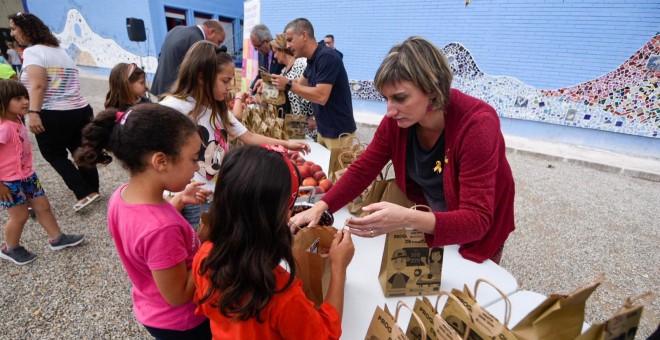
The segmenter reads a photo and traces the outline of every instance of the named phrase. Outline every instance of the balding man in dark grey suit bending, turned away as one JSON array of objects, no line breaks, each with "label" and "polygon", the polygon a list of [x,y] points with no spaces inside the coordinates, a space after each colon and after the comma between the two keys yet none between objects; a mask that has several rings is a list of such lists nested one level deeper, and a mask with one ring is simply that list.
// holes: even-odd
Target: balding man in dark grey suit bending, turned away
[{"label": "balding man in dark grey suit bending, turned away", "polygon": [[176,26],[167,32],[160,49],[158,68],[154,74],[151,93],[159,96],[174,83],[183,57],[190,46],[200,40],[208,40],[218,46],[225,41],[225,29],[218,20],[207,20],[196,26]]}]

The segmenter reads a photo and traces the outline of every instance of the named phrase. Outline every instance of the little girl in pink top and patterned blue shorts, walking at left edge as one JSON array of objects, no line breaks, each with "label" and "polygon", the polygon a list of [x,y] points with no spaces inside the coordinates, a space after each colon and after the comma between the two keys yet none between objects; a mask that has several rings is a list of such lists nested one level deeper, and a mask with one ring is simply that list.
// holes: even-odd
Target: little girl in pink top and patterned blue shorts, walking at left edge
[{"label": "little girl in pink top and patterned blue shorts, walking at left edge", "polygon": [[27,114],[28,91],[15,80],[0,79],[0,207],[7,209],[6,244],[0,258],[18,265],[37,257],[20,245],[28,219],[28,204],[50,237],[50,248],[60,250],[79,245],[85,235],[60,231],[37,174],[32,167],[32,144],[21,116]]}]

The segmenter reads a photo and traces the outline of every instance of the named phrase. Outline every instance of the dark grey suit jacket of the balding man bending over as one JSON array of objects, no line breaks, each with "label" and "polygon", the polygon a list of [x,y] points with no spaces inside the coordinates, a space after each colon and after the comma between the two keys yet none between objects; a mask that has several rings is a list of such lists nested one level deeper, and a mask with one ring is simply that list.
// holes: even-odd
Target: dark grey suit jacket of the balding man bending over
[{"label": "dark grey suit jacket of the balding man bending over", "polygon": [[194,43],[204,40],[202,30],[197,26],[177,26],[167,32],[160,49],[158,68],[151,85],[151,93],[159,96],[167,92],[176,80],[179,65]]}]

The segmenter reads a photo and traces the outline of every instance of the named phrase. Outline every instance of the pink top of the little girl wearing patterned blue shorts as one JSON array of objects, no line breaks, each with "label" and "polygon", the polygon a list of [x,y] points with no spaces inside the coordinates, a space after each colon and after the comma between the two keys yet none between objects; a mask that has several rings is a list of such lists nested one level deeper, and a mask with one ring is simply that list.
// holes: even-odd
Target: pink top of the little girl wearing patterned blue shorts
[{"label": "pink top of the little girl wearing patterned blue shorts", "polygon": [[33,173],[32,143],[25,125],[0,120],[0,181],[18,181]]}]

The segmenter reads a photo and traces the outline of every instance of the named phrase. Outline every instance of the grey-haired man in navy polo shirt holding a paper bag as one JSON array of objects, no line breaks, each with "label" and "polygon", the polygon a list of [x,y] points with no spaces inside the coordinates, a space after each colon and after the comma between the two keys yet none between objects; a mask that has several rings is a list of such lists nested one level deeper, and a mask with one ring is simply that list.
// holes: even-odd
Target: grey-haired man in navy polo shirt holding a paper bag
[{"label": "grey-haired man in navy polo shirt holding a paper bag", "polygon": [[318,127],[317,141],[328,149],[339,147],[339,135],[355,135],[356,130],[344,63],[335,50],[316,42],[314,28],[307,19],[291,21],[284,28],[284,34],[293,56],[307,58],[307,68],[295,81],[272,75],[273,83],[281,90],[293,91],[312,102]]}]

